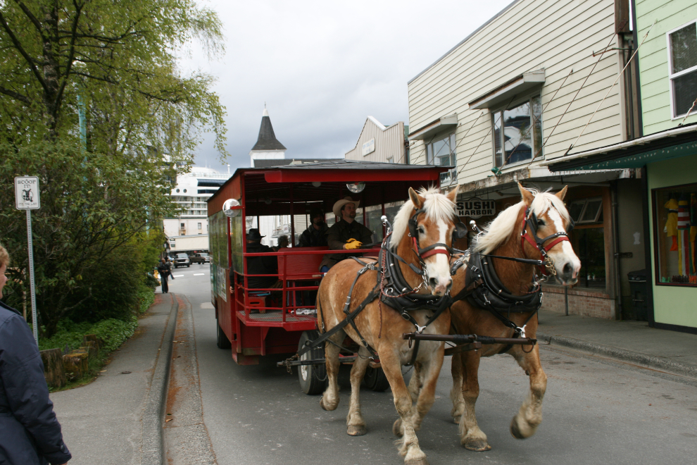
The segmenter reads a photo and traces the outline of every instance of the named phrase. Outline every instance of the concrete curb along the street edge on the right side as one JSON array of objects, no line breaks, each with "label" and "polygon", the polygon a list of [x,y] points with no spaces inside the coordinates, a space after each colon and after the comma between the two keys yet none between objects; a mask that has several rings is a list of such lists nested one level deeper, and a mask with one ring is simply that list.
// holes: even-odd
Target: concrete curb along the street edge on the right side
[{"label": "concrete curb along the street edge on the right side", "polygon": [[596,344],[594,342],[587,342],[565,336],[549,336],[543,333],[537,333],[537,339],[544,341],[549,345],[570,347],[582,352],[589,352],[590,354],[601,355],[610,359],[616,359],[630,364],[643,366],[644,368],[667,371],[680,376],[687,376],[689,378],[697,378],[696,366],[681,364],[660,356],[643,354],[641,352],[634,352],[632,350]]}]

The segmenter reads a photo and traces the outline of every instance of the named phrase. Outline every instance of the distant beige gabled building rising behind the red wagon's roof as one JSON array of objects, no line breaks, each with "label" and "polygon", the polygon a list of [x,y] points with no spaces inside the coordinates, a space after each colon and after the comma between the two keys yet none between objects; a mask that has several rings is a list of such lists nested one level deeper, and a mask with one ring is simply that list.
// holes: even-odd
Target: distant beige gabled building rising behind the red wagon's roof
[{"label": "distant beige gabled building rising behind the red wagon's roof", "polygon": [[404,123],[385,127],[368,116],[360,131],[356,147],[344,155],[347,160],[382,161],[383,163],[407,163],[404,144]]}]

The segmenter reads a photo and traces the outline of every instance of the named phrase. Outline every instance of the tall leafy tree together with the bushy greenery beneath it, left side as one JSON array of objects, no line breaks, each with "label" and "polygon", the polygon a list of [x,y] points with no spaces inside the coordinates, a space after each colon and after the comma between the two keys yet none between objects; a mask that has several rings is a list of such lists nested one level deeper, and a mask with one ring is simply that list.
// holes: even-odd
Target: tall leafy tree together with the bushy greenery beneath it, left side
[{"label": "tall leafy tree together with the bushy greenery beneath it, left side", "polygon": [[[94,320],[130,307],[129,289],[142,282],[114,273],[143,276],[154,264],[164,242],[158,219],[175,213],[167,178],[189,168],[204,130],[215,133],[225,157],[225,109],[211,77],[182,76],[176,66],[191,39],[220,51],[220,27],[194,0],[0,0],[0,242],[13,259],[7,300],[21,306],[28,291],[24,214],[14,209],[12,178],[38,175],[42,208],[32,218],[44,336],[61,318]],[[115,266],[124,254],[131,255]]]}]

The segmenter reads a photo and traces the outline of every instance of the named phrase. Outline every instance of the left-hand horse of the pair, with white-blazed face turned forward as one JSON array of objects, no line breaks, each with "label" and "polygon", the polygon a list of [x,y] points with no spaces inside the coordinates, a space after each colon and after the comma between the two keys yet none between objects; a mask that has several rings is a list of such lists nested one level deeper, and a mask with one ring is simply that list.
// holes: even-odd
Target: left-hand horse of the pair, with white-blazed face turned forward
[{"label": "left-hand horse of the pair, with white-blazed face turned forward", "polygon": [[[438,315],[427,308],[399,314],[394,308],[396,304],[388,306],[384,302],[391,300],[385,294],[411,294],[432,301],[449,299],[448,291],[452,285],[450,249],[453,231],[457,229],[459,222],[455,215],[456,194],[457,189],[448,194],[442,194],[434,187],[422,189],[418,193],[409,189],[410,199],[396,214],[389,241],[386,239],[383,242],[380,254],[383,262],[384,254],[403,259],[394,261],[393,264],[399,268],[408,286],[386,290],[384,275],[379,273],[382,264],[372,262],[372,267],[365,267],[356,260],[344,259],[327,272],[318,290],[320,333],[331,331],[344,321],[349,310],[356,311],[358,306],[365,304],[363,310],[359,310],[360,313],[353,318],[351,325],[344,322],[344,327],[337,328],[340,330],[325,343],[328,385],[320,399],[320,407],[332,411],[339,404],[339,351],[348,335],[360,349],[351,368],[347,433],[352,436],[366,433],[365,420],[360,412],[360,382],[371,356],[377,354],[389,381],[394,407],[399,416],[392,430],[399,438],[396,442],[399,453],[408,465],[428,463],[426,454],[419,447],[415,431],[419,430],[425,414],[434,402],[436,383],[443,364],[444,343],[421,342],[417,349],[417,345],[403,340],[403,333],[412,333],[415,325],[419,325],[425,333],[448,333],[451,323],[449,302]],[[370,302],[366,304],[365,301]],[[402,376],[401,367],[405,364],[417,366],[422,373],[420,393],[414,399]]]}]

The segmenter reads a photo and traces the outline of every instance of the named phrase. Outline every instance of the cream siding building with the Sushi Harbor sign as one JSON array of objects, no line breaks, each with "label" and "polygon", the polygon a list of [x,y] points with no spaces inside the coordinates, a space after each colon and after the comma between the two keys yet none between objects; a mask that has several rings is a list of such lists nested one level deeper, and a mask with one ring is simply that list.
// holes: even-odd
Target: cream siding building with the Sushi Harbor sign
[{"label": "cream siding building with the Sushi Harbor sign", "polygon": [[[627,272],[643,263],[639,225],[622,213],[643,208],[634,170],[546,167],[640,135],[634,68],[621,74],[634,46],[628,0],[517,0],[408,82],[410,163],[456,167],[441,185],[460,185],[465,223],[485,225],[518,202],[517,182],[569,186],[582,262],[570,313],[627,318]],[[468,210],[478,201],[492,208]],[[543,308],[565,311],[563,287],[544,290]]]}]

